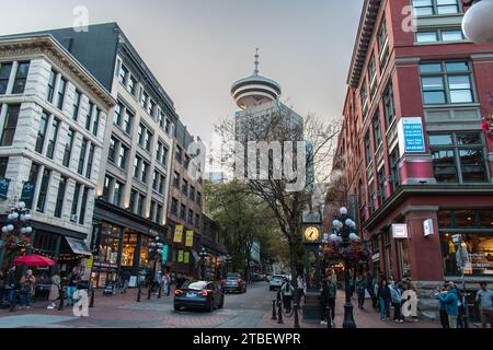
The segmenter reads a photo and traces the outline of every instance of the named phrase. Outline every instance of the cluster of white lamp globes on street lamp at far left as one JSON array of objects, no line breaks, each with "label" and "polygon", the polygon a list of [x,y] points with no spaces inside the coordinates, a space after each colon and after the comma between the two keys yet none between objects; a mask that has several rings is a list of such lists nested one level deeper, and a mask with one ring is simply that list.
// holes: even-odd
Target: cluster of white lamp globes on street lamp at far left
[{"label": "cluster of white lamp globes on street lamp at far left", "polygon": [[1,229],[2,245],[12,250],[28,248],[33,228],[30,224],[32,215],[30,209],[26,209],[25,202],[21,201],[15,208],[11,209],[7,219],[8,223]]}]

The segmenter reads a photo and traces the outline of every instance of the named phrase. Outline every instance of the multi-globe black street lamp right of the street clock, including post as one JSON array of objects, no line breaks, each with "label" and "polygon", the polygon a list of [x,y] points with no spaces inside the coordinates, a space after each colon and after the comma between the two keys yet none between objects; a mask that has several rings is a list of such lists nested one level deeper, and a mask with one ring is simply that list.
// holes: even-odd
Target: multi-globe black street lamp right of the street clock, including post
[{"label": "multi-globe black street lamp right of the street clock, including post", "polygon": [[341,255],[344,260],[344,280],[346,303],[344,304],[344,323],[343,328],[356,328],[356,323],[353,316],[353,304],[351,303],[351,268],[357,261],[352,256],[352,243],[359,243],[362,238],[356,231],[356,223],[347,215],[347,209],[340,209],[341,217],[335,219],[332,223],[332,234],[330,240],[332,243],[339,245]]}]

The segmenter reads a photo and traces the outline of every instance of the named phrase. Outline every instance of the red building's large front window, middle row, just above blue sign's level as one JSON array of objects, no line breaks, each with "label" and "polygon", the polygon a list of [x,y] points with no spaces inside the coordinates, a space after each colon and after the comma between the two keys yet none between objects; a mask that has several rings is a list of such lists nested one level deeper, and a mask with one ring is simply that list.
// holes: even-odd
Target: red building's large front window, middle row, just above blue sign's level
[{"label": "red building's large front window, middle row, just above blue sign's level", "polygon": [[422,63],[420,70],[425,105],[474,102],[469,62]]}]

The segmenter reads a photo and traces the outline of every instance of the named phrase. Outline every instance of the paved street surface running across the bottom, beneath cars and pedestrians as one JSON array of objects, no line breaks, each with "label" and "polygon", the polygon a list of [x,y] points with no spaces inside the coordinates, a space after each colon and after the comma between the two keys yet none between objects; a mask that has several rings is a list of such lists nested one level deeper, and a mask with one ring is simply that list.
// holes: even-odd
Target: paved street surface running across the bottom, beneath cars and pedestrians
[{"label": "paved street surface running across the bottom, beneath cars and pedestrians", "polygon": [[[225,308],[214,313],[174,312],[173,299],[158,300],[152,295],[147,300],[142,292],[141,302],[137,303],[137,291],[117,294],[111,298],[96,293],[95,307],[90,308],[90,317],[74,317],[70,308],[62,312],[48,311],[45,303],[36,303],[30,311],[9,313],[0,311],[0,328],[293,328],[294,319],[284,318],[279,325],[272,320],[272,300],[275,292],[270,292],[266,283],[249,287],[246,294],[228,294]],[[343,320],[343,293],[336,305],[336,326]],[[394,324],[382,323],[374,311],[360,312],[355,308],[355,319],[359,328],[436,328],[438,323],[419,322]],[[324,328],[318,323],[305,323],[301,328]]]}]

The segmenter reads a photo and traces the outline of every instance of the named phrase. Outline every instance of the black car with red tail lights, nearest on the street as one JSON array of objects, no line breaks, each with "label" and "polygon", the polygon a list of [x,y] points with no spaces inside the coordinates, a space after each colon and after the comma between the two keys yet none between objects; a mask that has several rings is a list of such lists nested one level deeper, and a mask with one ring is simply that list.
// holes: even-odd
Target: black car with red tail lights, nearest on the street
[{"label": "black car with red tail lights, nearest on the street", "polygon": [[187,282],[174,292],[174,311],[194,308],[213,312],[223,305],[225,294],[215,282]]}]

